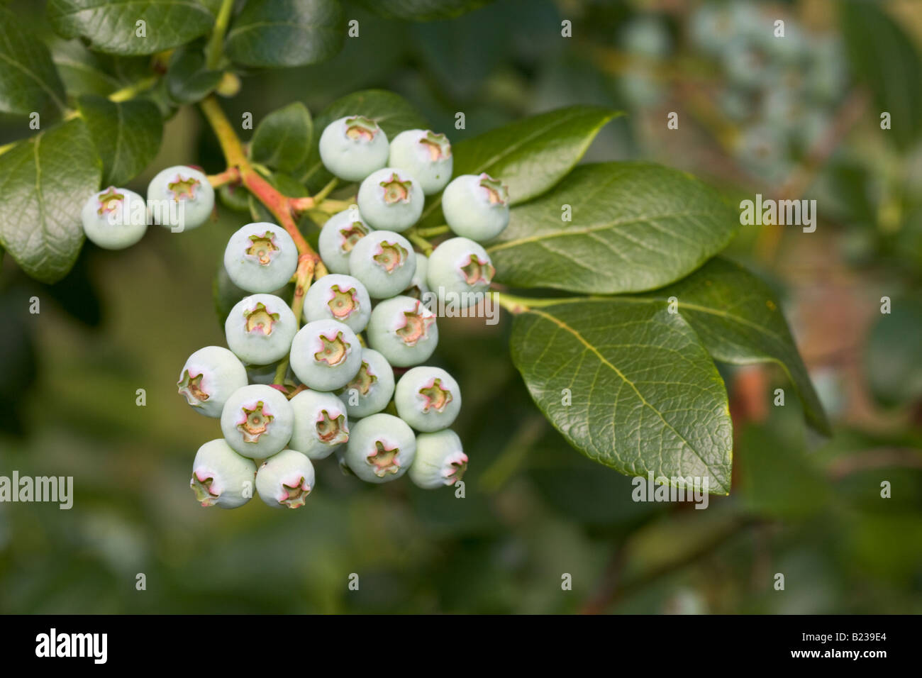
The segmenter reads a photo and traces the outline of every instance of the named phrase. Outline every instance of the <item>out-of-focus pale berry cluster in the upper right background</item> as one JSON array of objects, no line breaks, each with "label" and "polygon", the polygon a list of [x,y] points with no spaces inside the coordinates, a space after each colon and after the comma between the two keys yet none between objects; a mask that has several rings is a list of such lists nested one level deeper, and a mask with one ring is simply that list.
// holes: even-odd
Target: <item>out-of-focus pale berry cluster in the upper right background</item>
[{"label": "out-of-focus pale berry cluster in the upper right background", "polygon": [[[784,20],[784,35],[775,25]],[[691,42],[719,66],[724,115],[739,125],[734,151],[750,171],[782,181],[831,125],[847,86],[839,38],[802,29],[753,2],[705,3],[691,15]]]}]

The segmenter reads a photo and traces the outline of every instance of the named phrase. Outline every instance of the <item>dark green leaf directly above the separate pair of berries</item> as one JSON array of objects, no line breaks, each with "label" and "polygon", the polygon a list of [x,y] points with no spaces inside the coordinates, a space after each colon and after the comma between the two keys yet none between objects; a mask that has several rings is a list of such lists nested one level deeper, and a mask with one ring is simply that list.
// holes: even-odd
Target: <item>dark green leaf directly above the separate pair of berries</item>
[{"label": "dark green leaf directly above the separate pair of berries", "polygon": [[102,159],[102,184],[126,184],[157,156],[163,121],[152,101],[115,102],[87,95],[78,105]]}]

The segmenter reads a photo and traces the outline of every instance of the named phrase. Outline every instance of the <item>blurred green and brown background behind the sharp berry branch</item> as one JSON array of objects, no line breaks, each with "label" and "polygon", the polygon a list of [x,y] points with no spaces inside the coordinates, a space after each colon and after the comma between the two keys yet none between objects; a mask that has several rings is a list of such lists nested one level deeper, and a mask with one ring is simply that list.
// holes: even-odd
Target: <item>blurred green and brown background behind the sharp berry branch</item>
[{"label": "blurred green and brown background behind the sharp berry branch", "polygon": [[[41,5],[12,3],[24,18]],[[538,414],[508,357],[507,317],[443,319],[438,362],[465,391],[465,499],[365,485],[331,458],[305,510],[202,510],[190,461],[218,431],[174,384],[189,353],[223,341],[212,281],[248,218],[220,208],[183,237],[152,228],[118,253],[86,244],[53,286],[3,261],[0,474],[72,475],[76,498],[69,511],[0,504],[0,612],[922,612],[922,6],[496,0],[409,23],[363,5],[345,3],[360,38],[331,62],[243,74],[224,101],[231,119],[258,122],[290,101],[316,114],[383,88],[456,141],[597,103],[628,115],[587,161],[664,162],[736,202],[817,198],[816,232],[744,227],[729,254],[785,299],[833,436],[805,428],[783,375],[722,366],[733,492],[703,511],[634,503],[630,479],[582,458]],[[766,37],[766,18],[786,21],[786,42]],[[561,39],[562,19],[573,38]],[[68,86],[114,89],[81,83],[67,49],[55,54]],[[223,169],[195,109],[171,118],[130,187],[143,192],[177,163]],[[360,590],[347,589],[350,573]]]}]

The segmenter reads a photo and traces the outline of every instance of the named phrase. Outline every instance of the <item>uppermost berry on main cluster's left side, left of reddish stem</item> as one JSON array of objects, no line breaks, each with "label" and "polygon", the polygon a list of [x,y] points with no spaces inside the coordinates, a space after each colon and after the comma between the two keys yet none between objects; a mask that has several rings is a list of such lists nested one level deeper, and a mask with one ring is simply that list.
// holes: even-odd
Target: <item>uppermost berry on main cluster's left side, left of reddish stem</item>
[{"label": "uppermost berry on main cluster's left side, left of reddish stem", "polygon": [[278,224],[248,223],[231,235],[224,250],[224,268],[243,290],[276,291],[298,268],[298,248]]}]

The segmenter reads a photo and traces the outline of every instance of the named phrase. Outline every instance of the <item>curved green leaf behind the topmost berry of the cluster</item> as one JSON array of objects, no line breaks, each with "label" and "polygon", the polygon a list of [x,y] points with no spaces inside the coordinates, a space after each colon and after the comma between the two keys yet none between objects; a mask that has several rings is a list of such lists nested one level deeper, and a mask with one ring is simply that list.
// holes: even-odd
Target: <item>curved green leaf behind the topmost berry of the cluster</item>
[{"label": "curved green leaf behind the topmost berry of the cluster", "polygon": [[[317,116],[314,127],[323,132],[326,125],[346,115],[364,115],[371,118],[381,126],[389,139],[405,129],[425,128],[428,125],[409,101],[399,94],[385,89],[363,89],[347,94],[327,106]],[[295,172],[301,183],[307,184],[312,192],[319,190],[333,178],[320,161],[319,141],[320,135],[314,135],[307,161],[304,162],[303,168],[300,168],[301,172]]]}]

